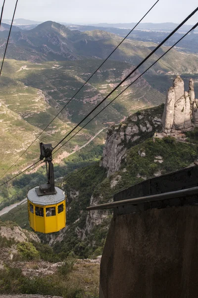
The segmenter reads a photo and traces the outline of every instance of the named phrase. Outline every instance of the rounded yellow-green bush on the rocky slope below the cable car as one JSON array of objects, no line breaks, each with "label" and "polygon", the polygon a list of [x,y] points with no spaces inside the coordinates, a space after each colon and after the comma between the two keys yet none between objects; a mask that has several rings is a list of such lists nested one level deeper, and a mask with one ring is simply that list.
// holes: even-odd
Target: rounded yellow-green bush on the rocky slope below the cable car
[{"label": "rounded yellow-green bush on the rocky slope below the cable car", "polygon": [[39,260],[40,254],[35,246],[30,242],[17,244],[17,250],[23,260]]}]

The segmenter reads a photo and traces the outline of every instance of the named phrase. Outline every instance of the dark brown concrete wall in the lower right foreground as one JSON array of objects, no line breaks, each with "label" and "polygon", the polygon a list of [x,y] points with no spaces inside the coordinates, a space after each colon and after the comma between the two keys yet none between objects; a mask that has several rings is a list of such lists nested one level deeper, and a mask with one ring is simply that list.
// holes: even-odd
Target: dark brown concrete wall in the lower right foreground
[{"label": "dark brown concrete wall in the lower right foreground", "polygon": [[[150,179],[149,185],[156,182],[158,193],[197,186],[197,173],[193,167],[174,173],[174,180],[173,174]],[[138,188],[141,184],[134,193]],[[133,187],[115,198],[126,199],[129,192]],[[198,196],[184,200],[184,206],[166,202],[160,209],[147,205],[123,215],[115,210],[101,259],[99,298],[198,297]]]}]

